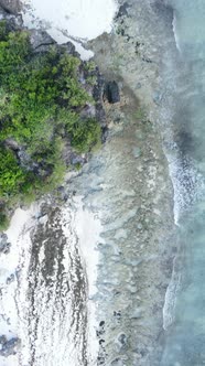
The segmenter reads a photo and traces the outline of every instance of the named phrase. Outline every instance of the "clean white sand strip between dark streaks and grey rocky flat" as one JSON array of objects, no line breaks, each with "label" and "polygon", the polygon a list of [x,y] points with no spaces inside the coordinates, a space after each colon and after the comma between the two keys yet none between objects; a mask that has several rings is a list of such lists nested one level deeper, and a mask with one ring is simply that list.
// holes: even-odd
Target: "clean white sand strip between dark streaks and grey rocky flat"
[{"label": "clean white sand strip between dark streaks and grey rocky flat", "polygon": [[[96,302],[95,294],[97,293],[97,266],[99,263],[99,256],[97,245],[101,241],[100,233],[102,232],[100,219],[93,212],[84,207],[82,197],[75,197],[76,213],[72,227],[75,227],[77,235],[78,248],[80,250],[80,257],[84,262],[85,271],[88,281],[88,329],[87,329],[87,342],[88,342],[88,359],[89,365],[95,365],[98,353],[98,341],[96,337],[97,319],[96,319]],[[66,209],[62,212],[66,217]],[[64,229],[65,236],[71,237],[71,230]],[[75,364],[76,365],[76,364]]]}]

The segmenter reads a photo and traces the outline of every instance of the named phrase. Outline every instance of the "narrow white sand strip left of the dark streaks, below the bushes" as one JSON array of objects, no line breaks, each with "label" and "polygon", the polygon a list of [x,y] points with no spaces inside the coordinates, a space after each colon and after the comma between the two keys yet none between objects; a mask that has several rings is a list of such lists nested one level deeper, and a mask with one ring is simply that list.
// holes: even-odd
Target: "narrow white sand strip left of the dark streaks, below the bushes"
[{"label": "narrow white sand strip left of the dark streaks, below the bushes", "polygon": [[[8,241],[11,243],[9,254],[0,255],[0,335],[6,335],[8,340],[19,337],[21,322],[18,314],[17,292],[18,292],[18,276],[21,267],[22,250],[26,250],[26,245],[30,246],[28,230],[33,225],[33,216],[36,211],[36,205],[32,205],[30,209],[18,208],[11,219],[9,229],[6,232]],[[23,245],[22,248],[22,236]],[[26,238],[26,240],[25,240]],[[8,279],[12,277],[12,281]],[[18,356],[1,357],[0,364],[3,366],[17,366]]]}]

